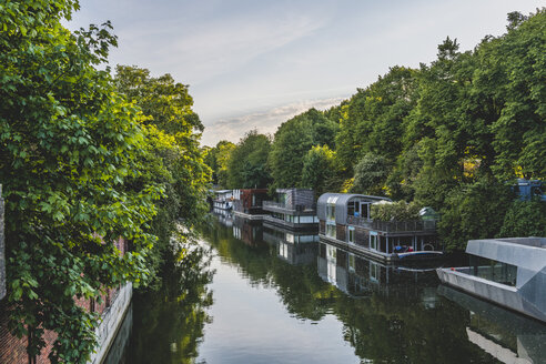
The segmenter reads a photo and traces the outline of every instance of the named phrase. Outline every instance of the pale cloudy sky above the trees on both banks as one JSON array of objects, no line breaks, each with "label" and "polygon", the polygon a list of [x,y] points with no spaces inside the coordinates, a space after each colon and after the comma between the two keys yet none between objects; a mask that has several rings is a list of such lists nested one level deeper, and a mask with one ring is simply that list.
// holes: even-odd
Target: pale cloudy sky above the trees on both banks
[{"label": "pale cloudy sky above the trees on both banks", "polygon": [[80,0],[69,29],[112,22],[110,64],[188,84],[202,144],[274,134],[310,108],[326,110],[393,65],[436,58],[447,36],[472,50],[537,0]]}]

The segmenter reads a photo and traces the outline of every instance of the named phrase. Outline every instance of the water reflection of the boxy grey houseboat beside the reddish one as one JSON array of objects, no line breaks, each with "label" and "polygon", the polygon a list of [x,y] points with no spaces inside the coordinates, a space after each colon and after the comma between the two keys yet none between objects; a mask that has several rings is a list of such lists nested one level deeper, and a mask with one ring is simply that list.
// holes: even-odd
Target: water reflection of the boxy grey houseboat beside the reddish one
[{"label": "water reflection of the boxy grey houseboat beside the reddish one", "polygon": [[318,235],[290,231],[279,226],[264,226],[263,240],[276,246],[280,259],[292,264],[310,264],[316,257]]}]

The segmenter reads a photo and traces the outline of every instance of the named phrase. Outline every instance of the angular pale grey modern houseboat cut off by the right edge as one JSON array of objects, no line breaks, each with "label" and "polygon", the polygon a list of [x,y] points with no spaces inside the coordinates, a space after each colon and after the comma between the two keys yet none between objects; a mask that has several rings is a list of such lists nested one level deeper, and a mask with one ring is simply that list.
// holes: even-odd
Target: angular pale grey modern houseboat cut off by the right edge
[{"label": "angular pale grey modern houseboat cut off by the right edge", "polygon": [[471,240],[469,266],[438,269],[442,283],[546,322],[546,237]]}]

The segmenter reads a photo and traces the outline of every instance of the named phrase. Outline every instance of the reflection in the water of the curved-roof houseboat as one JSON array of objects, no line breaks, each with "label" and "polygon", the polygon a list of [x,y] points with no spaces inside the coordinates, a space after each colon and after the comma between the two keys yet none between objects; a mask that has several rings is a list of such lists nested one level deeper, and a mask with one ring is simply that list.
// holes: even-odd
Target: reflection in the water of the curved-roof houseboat
[{"label": "reflection in the water of the curved-roof houseboat", "polygon": [[[318,275],[351,296],[364,296],[372,292],[390,295],[422,295],[427,306],[435,303],[435,293],[423,285],[436,285],[434,272],[429,270],[400,270],[385,265],[326,242],[318,243]],[[393,290],[393,287],[395,287]]]}]

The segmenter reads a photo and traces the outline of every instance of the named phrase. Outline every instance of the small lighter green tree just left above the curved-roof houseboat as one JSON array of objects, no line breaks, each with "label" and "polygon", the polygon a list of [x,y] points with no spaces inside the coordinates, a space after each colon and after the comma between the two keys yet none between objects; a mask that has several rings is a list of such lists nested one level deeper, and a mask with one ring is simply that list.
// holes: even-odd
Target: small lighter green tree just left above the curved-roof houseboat
[{"label": "small lighter green tree just left above the curved-roof houseboat", "polygon": [[313,146],[303,159],[302,188],[312,189],[318,198],[336,189],[337,168],[335,152],[327,145]]}]

